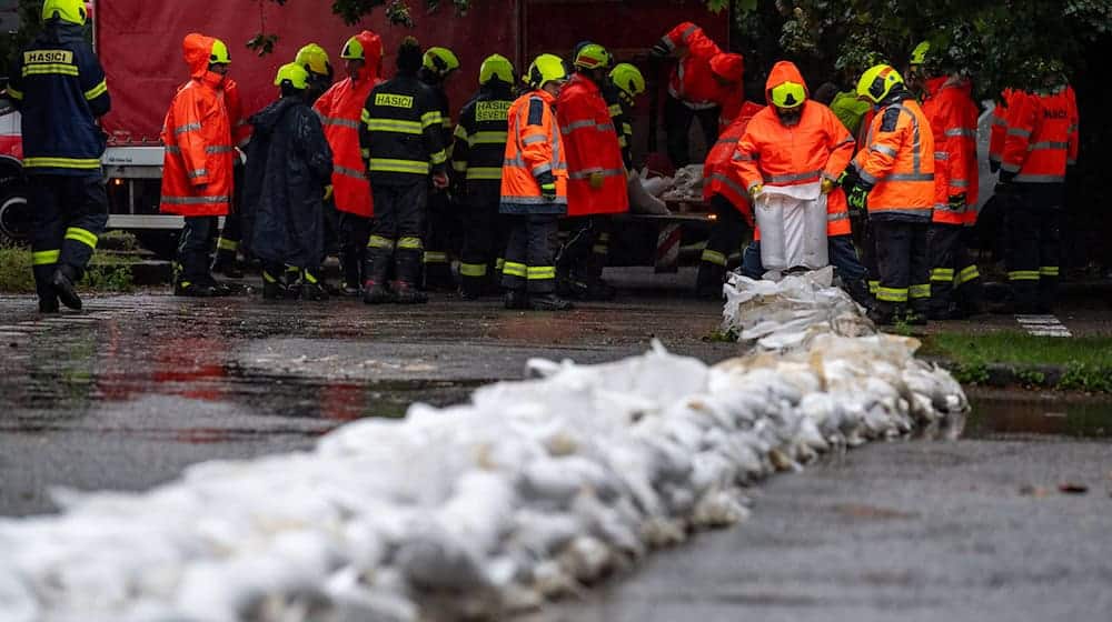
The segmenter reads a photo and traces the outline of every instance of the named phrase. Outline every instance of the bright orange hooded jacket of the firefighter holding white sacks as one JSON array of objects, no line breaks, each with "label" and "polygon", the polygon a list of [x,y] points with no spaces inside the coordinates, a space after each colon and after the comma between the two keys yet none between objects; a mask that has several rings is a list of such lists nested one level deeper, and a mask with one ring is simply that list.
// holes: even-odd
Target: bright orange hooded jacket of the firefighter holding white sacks
[{"label": "bright orange hooded jacket of the firefighter holding white sacks", "polygon": [[[767,101],[772,90],[784,82],[806,82],[795,64],[777,62],[765,82]],[[810,96],[810,92],[807,92]],[[830,108],[807,100],[796,126],[781,122],[776,109],[767,107],[757,112],[737,142],[734,165],[749,191],[758,183],[798,185],[822,179],[836,181],[853,158],[853,137]],[[850,210],[845,192],[835,188],[826,197],[826,234],[847,235]]]}]

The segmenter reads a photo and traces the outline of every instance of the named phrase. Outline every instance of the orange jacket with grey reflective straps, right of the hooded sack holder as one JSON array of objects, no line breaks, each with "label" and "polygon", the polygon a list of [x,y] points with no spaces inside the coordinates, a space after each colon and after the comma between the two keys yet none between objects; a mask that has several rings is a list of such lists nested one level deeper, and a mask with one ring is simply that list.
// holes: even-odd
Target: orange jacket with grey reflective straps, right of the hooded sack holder
[{"label": "orange jacket with grey reflective straps, right of the hooded sack holder", "polygon": [[883,104],[854,159],[861,179],[873,184],[868,218],[931,220],[934,207],[934,134],[910,94]]}]

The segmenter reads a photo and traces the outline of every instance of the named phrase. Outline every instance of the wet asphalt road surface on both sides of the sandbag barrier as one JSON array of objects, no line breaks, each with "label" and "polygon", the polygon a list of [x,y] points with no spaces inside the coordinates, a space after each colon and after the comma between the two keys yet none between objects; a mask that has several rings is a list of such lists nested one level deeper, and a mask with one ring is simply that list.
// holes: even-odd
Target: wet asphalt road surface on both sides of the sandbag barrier
[{"label": "wet asphalt road surface on both sides of the sandbag barrier", "polygon": [[[522,378],[533,357],[612,360],[653,338],[707,361],[734,352],[703,339],[721,307],[684,297],[683,278],[623,277],[618,302],[560,315],[444,295],[367,308],[158,292],[42,320],[0,297],[0,515],[51,511],[51,486],[142,490],[197,461],[307,449],[344,421]],[[1102,408],[1086,417],[1112,428]],[[529,619],[1112,619],[1112,448],[993,429],[1011,433],[872,445],[776,476],[746,523]]]}]

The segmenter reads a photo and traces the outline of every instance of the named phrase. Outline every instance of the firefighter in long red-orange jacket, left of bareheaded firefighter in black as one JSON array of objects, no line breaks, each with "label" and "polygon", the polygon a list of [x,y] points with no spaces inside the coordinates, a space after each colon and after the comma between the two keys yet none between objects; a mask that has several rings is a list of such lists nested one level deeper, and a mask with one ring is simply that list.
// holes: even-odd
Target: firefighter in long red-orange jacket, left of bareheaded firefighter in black
[{"label": "firefighter in long red-orange jacket, left of bareheaded firefighter in black", "polygon": [[312,108],[320,116],[332,149],[331,199],[339,212],[340,291],[344,295],[359,295],[370,217],[375,213],[359,152],[359,119],[370,90],[381,82],[383,40],[364,30],[344,43],[340,58],[347,79],[332,84]]}]

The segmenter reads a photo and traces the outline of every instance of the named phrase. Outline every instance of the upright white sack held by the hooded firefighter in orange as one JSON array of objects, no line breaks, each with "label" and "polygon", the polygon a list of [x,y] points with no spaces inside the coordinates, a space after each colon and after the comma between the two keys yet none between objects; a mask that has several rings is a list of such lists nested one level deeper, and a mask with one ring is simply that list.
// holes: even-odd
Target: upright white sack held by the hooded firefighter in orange
[{"label": "upright white sack held by the hooded firefighter in orange", "polygon": [[761,262],[767,271],[816,270],[830,263],[826,195],[820,182],[765,185],[756,201]]}]

